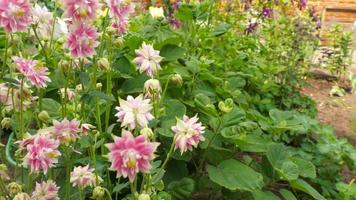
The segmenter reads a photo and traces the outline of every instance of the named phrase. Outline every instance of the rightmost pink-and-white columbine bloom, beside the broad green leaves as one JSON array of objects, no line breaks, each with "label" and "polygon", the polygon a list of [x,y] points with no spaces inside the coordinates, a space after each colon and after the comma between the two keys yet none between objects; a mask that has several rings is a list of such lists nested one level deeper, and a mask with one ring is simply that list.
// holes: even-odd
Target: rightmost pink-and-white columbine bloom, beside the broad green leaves
[{"label": "rightmost pink-and-white columbine bloom, beside the broad green leaves", "polygon": [[205,138],[202,135],[205,127],[199,122],[199,118],[194,116],[189,118],[183,116],[183,120],[177,119],[177,124],[172,126],[172,130],[175,133],[175,149],[180,149],[181,154],[187,150],[193,150],[193,147],[197,147],[200,141],[204,141]]}]

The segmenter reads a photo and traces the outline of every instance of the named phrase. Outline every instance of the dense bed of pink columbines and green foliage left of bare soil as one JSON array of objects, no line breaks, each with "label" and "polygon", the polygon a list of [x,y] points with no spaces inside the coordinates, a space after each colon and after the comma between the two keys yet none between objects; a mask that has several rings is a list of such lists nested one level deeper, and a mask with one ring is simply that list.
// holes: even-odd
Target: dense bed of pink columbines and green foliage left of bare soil
[{"label": "dense bed of pink columbines and green foliage left of bare soil", "polygon": [[285,2],[1,1],[0,199],[342,199]]}]

